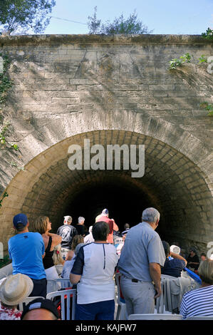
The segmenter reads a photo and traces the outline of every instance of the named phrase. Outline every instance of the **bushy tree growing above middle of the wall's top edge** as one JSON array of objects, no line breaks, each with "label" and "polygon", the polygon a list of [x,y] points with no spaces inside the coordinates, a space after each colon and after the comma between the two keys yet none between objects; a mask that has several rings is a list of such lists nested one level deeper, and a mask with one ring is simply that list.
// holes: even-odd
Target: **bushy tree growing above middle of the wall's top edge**
[{"label": "bushy tree growing above middle of the wall's top edge", "polygon": [[106,21],[105,24],[101,24],[101,20],[97,19],[97,6],[95,6],[93,16],[88,16],[88,29],[89,33],[104,33],[105,35],[152,33],[152,31],[148,31],[147,26],[142,21],[137,19],[135,11],[130,14],[128,19],[125,19],[123,14],[121,14],[113,22]]}]

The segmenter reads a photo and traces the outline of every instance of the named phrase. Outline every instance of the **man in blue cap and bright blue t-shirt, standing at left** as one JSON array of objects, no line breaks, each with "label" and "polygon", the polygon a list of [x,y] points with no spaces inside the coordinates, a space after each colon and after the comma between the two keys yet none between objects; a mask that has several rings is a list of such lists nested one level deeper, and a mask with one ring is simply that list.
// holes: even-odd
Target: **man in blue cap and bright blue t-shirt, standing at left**
[{"label": "man in blue cap and bright blue t-shirt, standing at left", "polygon": [[14,216],[13,222],[16,235],[8,242],[13,274],[26,274],[32,279],[31,297],[46,298],[46,272],[42,260],[45,254],[43,238],[38,232],[28,231],[29,222],[25,214]]}]

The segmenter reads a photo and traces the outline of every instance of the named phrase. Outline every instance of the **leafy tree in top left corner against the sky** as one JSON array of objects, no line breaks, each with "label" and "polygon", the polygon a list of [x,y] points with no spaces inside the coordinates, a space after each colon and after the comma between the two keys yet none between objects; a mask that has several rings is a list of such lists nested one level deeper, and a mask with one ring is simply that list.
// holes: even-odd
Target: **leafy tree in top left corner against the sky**
[{"label": "leafy tree in top left corner against the sky", "polygon": [[42,33],[48,26],[55,0],[0,0],[0,28],[8,35]]}]

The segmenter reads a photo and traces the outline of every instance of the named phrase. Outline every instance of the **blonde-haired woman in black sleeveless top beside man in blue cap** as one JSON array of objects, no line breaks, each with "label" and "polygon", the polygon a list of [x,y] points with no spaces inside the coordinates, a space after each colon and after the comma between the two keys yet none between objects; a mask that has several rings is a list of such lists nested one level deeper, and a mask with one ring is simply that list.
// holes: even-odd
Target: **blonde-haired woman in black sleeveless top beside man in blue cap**
[{"label": "blonde-haired woman in black sleeveless top beside man in blue cap", "polygon": [[61,236],[50,233],[51,222],[48,217],[40,216],[34,222],[34,231],[39,232],[43,237],[45,256],[43,257],[43,267],[46,272],[46,279],[58,278],[58,272],[53,262],[53,249],[61,243]]}]

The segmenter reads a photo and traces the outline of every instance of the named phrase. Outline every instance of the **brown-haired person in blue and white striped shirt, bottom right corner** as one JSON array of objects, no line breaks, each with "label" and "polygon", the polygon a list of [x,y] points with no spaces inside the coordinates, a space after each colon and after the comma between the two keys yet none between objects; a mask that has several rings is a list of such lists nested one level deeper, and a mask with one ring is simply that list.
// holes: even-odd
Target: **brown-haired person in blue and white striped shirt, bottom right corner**
[{"label": "brown-haired person in blue and white striped shirt, bottom right corner", "polygon": [[202,286],[184,294],[180,306],[183,319],[189,316],[213,316],[213,260],[206,259],[199,265]]}]

